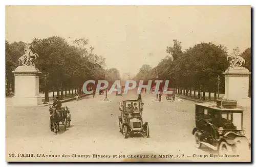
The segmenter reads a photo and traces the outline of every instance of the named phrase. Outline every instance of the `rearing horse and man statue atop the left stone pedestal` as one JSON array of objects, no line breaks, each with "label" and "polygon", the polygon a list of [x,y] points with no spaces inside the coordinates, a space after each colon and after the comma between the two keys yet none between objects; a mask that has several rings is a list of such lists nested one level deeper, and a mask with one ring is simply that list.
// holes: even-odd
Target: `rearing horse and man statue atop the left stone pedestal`
[{"label": "rearing horse and man statue atop the left stone pedestal", "polygon": [[23,54],[20,58],[18,58],[19,63],[22,63],[24,66],[34,66],[32,63],[33,59],[37,59],[39,57],[38,54],[34,53],[30,49],[30,45],[26,45],[24,48],[25,54]]}]

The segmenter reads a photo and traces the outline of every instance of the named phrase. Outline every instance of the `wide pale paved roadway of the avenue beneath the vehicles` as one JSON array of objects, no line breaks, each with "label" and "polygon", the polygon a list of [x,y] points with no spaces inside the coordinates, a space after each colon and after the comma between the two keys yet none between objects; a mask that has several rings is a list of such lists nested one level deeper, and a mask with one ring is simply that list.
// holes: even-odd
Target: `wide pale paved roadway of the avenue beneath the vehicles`
[{"label": "wide pale paved roadway of the avenue beneath the vehicles", "polygon": [[[49,128],[49,106],[6,106],[6,153],[8,160],[21,161],[122,161],[115,154],[138,155],[170,154],[177,158],[156,158],[156,161],[217,161],[227,158],[195,158],[193,154],[218,154],[206,147],[197,149],[191,131],[195,127],[195,102],[153,102],[155,95],[142,94],[143,120],[150,126],[150,138],[134,136],[124,139],[119,132],[118,105],[121,100],[137,99],[135,91],[123,96],[109,95],[111,102],[102,102],[104,95],[91,95],[63,103],[70,107],[71,127],[54,134]],[[248,124],[248,120],[245,121]],[[246,125],[245,125],[246,126]],[[9,153],[16,157],[9,158]],[[17,157],[18,153],[33,153],[35,157]],[[91,158],[40,158],[38,154],[91,155]],[[92,154],[110,155],[111,158],[92,158]],[[181,157],[184,154],[186,157]],[[188,157],[188,156],[191,157]],[[250,157],[246,157],[250,158]],[[133,159],[134,160],[134,159]],[[152,159],[146,159],[153,161]],[[233,160],[237,161],[238,158]]]}]

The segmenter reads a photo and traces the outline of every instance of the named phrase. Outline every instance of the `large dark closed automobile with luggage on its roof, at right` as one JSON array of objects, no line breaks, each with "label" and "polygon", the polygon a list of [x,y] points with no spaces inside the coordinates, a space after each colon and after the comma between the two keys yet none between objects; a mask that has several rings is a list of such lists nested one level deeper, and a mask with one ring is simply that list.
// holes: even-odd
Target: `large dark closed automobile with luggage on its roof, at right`
[{"label": "large dark closed automobile with luggage on its roof, at right", "polygon": [[250,150],[243,131],[243,109],[237,108],[236,101],[217,102],[217,105],[197,103],[196,127],[192,134],[196,148],[205,145],[218,150],[219,154]]}]

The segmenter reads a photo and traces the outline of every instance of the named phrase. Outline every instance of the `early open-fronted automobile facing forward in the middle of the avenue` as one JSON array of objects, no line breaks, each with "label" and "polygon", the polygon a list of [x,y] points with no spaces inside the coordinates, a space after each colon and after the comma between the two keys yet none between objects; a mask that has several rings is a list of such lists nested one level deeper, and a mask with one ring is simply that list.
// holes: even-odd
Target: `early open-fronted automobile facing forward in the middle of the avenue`
[{"label": "early open-fronted automobile facing forward in the middle of the avenue", "polygon": [[120,116],[119,129],[123,137],[127,138],[131,134],[139,133],[145,137],[150,136],[148,123],[143,124],[142,110],[143,103],[140,100],[125,100],[119,103]]}]

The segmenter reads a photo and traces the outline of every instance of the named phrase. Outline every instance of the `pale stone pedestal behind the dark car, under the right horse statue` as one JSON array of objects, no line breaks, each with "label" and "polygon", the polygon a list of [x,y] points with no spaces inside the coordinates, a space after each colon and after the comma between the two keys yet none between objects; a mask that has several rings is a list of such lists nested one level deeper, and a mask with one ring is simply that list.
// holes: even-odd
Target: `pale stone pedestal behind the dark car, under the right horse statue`
[{"label": "pale stone pedestal behind the dark car, under the right horse statue", "polygon": [[249,75],[244,67],[230,67],[223,73],[225,75],[225,95],[223,99],[237,100],[238,105],[250,107]]}]

